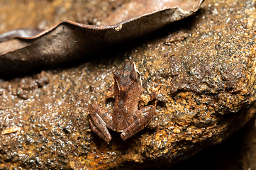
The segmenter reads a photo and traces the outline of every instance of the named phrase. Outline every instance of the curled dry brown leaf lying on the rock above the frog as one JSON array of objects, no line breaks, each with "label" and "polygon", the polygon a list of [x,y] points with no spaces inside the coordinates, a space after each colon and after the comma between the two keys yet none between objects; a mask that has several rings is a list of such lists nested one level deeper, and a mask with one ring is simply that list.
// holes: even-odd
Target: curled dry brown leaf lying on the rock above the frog
[{"label": "curled dry brown leaf lying on the rock above the frog", "polygon": [[131,1],[102,21],[104,26],[62,21],[33,37],[0,35],[0,75],[50,67],[138,38],[190,16],[203,1]]}]

